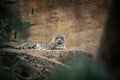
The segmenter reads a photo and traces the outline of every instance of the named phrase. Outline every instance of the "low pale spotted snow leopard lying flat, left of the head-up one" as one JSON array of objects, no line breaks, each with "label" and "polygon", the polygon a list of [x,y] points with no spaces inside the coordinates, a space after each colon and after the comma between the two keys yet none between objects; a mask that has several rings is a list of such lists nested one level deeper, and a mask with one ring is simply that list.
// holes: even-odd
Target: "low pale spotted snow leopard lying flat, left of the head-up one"
[{"label": "low pale spotted snow leopard lying flat, left of the head-up one", "polygon": [[16,49],[35,49],[35,50],[41,50],[41,45],[36,42],[25,42],[19,46],[16,47]]}]

